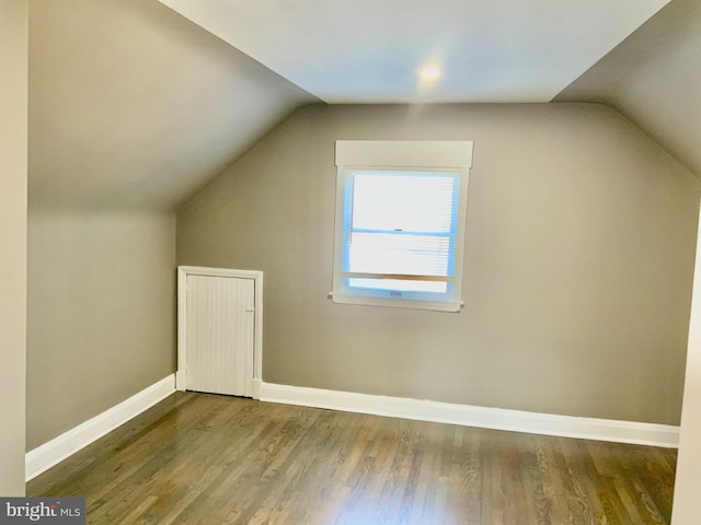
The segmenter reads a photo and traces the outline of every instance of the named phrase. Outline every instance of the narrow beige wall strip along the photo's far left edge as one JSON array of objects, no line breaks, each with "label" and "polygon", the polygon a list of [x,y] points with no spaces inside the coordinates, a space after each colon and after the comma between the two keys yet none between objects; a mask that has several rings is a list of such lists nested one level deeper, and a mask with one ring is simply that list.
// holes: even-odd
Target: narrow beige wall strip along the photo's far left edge
[{"label": "narrow beige wall strip along the photo's far left edge", "polygon": [[24,495],[26,0],[0,0],[0,495]]}]

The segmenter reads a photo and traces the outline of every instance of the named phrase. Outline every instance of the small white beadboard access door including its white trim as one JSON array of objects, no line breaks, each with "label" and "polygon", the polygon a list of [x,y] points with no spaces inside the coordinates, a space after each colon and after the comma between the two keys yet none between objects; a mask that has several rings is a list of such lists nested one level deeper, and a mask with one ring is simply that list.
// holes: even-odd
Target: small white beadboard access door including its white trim
[{"label": "small white beadboard access door including its white trim", "polygon": [[179,268],[177,389],[258,397],[262,282],[258,271]]}]

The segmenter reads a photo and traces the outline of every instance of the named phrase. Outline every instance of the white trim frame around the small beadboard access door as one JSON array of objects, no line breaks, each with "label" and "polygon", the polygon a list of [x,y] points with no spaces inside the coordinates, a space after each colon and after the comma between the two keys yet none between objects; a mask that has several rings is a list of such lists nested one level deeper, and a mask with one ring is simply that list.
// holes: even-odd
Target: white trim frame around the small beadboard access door
[{"label": "white trim frame around the small beadboard access door", "polygon": [[187,277],[229,277],[234,279],[253,279],[255,312],[253,314],[253,377],[252,397],[261,398],[263,382],[263,272],[258,270],[232,270],[227,268],[207,268],[203,266],[177,267],[177,371],[175,372],[175,388],[187,388]]}]

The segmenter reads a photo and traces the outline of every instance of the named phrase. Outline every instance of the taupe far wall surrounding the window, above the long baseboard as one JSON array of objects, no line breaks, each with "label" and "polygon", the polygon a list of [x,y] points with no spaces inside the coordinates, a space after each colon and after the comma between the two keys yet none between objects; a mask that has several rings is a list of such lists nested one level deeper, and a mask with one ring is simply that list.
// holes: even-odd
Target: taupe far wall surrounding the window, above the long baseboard
[{"label": "taupe far wall surrounding the window, above the long baseboard", "polygon": [[[336,139],[474,141],[461,313],[326,299]],[[601,105],[315,105],[180,209],[177,261],[265,272],[266,382],[677,424],[698,197]]]}]

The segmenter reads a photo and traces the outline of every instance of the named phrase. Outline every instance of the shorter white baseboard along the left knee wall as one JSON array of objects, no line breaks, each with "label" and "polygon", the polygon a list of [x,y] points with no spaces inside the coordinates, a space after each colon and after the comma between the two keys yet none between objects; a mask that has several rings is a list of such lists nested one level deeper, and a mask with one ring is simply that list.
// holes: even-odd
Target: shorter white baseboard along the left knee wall
[{"label": "shorter white baseboard along the left knee wall", "polygon": [[108,410],[72,428],[25,455],[26,481],[126,423],[175,392],[175,374],[154,383]]}]

